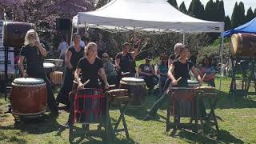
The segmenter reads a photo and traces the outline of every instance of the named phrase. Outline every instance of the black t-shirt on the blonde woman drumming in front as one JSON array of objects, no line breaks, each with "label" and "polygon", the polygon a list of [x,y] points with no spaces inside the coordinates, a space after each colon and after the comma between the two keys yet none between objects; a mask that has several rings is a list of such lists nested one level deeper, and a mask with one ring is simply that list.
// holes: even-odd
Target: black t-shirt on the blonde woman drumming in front
[{"label": "black t-shirt on the blonde woman drumming in front", "polygon": [[90,79],[90,82],[86,85],[88,88],[99,88],[98,86],[98,70],[103,68],[102,60],[96,58],[93,64],[90,64],[86,58],[81,58],[78,62],[78,68],[82,69],[82,83]]}]

